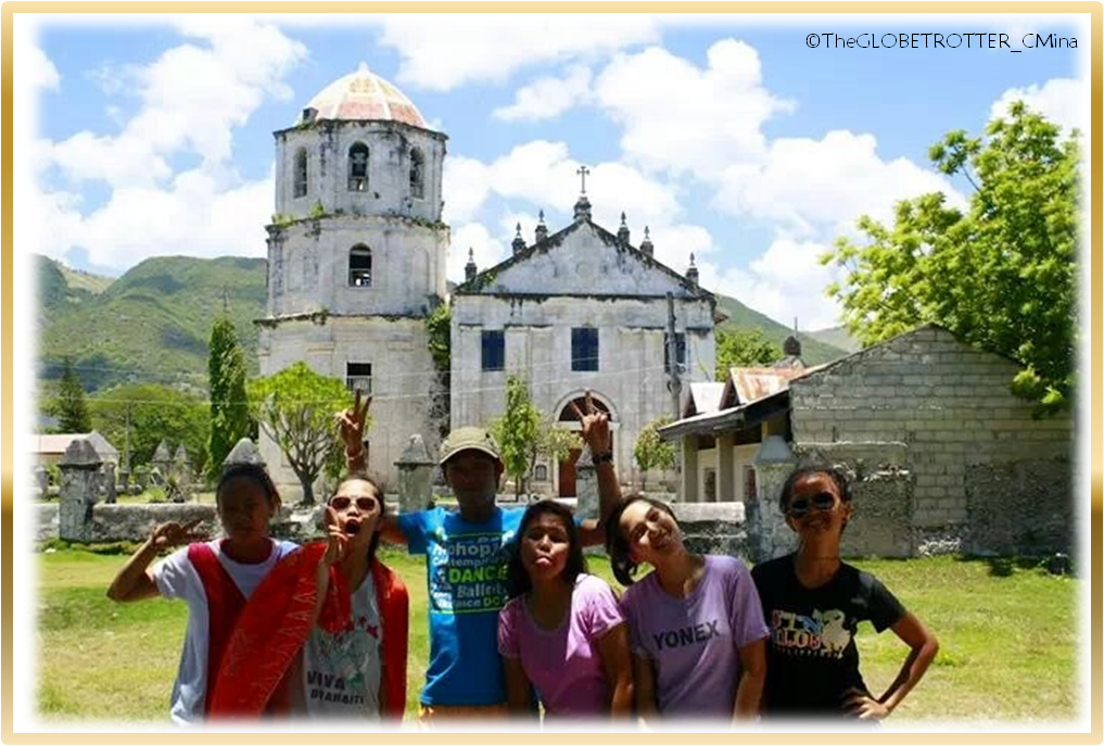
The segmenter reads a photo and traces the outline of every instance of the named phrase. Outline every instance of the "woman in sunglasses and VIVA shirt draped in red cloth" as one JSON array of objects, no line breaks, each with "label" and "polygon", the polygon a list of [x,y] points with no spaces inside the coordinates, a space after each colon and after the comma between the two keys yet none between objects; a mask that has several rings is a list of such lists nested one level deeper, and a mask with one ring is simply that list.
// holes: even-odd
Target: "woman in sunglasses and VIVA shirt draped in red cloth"
[{"label": "woman in sunglasses and VIVA shirt draped in red cloth", "polygon": [[397,733],[406,703],[406,587],[375,557],[383,495],[352,476],[328,542],[280,563],[250,599],[219,672],[210,729]]}]

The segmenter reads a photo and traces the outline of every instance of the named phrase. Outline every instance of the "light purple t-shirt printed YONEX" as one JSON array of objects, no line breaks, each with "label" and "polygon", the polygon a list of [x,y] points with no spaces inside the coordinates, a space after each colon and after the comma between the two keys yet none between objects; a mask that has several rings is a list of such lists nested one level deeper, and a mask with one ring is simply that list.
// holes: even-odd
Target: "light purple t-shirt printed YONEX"
[{"label": "light purple t-shirt printed YONEX", "polygon": [[728,733],[740,681],[739,648],[769,633],[751,573],[736,557],[705,556],[687,598],[656,573],[622,598],[633,653],[652,662],[667,733]]}]

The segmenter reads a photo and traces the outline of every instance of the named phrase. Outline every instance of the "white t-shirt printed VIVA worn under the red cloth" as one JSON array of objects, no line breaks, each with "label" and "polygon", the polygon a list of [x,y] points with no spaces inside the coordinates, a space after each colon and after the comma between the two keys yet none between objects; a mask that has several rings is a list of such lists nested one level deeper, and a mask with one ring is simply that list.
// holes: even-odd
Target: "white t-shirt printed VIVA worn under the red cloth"
[{"label": "white t-shirt printed VIVA worn under the red cloth", "polygon": [[352,594],[352,629],[310,632],[287,682],[288,733],[380,733],[383,626],[369,573]]}]

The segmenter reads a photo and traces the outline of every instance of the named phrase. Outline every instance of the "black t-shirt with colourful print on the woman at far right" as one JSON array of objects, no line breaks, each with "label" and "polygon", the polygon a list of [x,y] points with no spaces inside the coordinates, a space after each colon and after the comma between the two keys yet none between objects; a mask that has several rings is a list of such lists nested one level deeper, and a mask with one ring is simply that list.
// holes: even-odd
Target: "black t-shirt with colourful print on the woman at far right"
[{"label": "black t-shirt with colourful print on the woman at far right", "polygon": [[859,673],[854,632],[867,620],[881,632],[905,609],[873,575],[841,564],[831,580],[809,589],[798,582],[794,555],[752,569],[771,628],[764,695],[773,731],[868,733],[871,724],[843,717],[848,689],[868,692]]}]

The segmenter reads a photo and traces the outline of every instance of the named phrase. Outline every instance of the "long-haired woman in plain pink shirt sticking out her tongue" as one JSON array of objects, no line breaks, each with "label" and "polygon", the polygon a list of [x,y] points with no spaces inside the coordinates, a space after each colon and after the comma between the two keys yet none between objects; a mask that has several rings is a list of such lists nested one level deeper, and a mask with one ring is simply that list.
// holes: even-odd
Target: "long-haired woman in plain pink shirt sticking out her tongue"
[{"label": "long-haired woman in plain pink shirt sticking out her tongue", "polygon": [[626,733],[633,712],[628,630],[613,589],[586,573],[571,511],[529,507],[510,557],[511,600],[499,612],[510,726],[538,733]]}]

